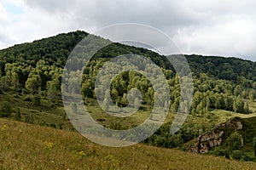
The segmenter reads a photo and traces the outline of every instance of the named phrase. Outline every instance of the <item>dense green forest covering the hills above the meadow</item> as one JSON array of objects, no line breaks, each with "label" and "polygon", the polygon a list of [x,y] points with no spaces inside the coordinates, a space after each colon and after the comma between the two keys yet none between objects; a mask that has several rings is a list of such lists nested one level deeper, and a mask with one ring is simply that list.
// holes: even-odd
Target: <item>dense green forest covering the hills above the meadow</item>
[{"label": "dense green forest covering the hills above the meadow", "polygon": [[[51,102],[55,102],[56,96],[61,94],[61,74],[67,57],[76,44],[87,35],[84,31],[75,31],[1,50],[0,88],[13,89],[20,93],[26,90],[27,93],[44,95]],[[91,44],[91,48],[94,48],[94,44]],[[144,48],[112,43],[98,51],[87,63],[81,91],[73,86],[74,82],[79,82],[79,71],[73,71],[66,80],[68,86],[62,88],[67,88],[70,93],[81,92],[86,98],[96,98],[96,91],[102,90],[95,89],[99,69],[106,61],[121,54],[143,55],[161,67],[172,92],[171,110],[177,111],[180,87],[176,72],[164,56]],[[195,82],[191,114],[206,116],[212,109],[249,113],[245,99],[253,101],[256,97],[255,62],[201,55],[187,55],[186,58]],[[74,58],[73,65],[83,66],[84,62],[79,57]],[[153,75],[158,74],[154,69],[150,71]],[[161,88],[161,83],[157,86]],[[135,71],[125,71],[115,77],[109,93],[116,105],[127,105],[129,100],[135,102],[133,105],[137,105],[139,99],[129,99],[131,95],[128,92],[131,90],[133,93],[133,88],[141,92],[144,105],[154,105],[154,95],[157,94],[154,94],[152,84],[147,77]],[[104,95],[101,95],[102,99]],[[104,104],[107,103],[108,101],[104,101]]]}]

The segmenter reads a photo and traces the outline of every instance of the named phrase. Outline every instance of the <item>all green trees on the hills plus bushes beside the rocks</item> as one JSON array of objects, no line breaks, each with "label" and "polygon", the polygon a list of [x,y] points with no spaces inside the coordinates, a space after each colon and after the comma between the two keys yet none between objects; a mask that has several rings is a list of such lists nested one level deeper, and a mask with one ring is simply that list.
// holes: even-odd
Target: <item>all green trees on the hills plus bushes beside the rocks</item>
[{"label": "all green trees on the hills plus bushes beside the rocks", "polygon": [[[20,109],[20,105],[13,105],[13,97],[31,102],[31,105],[39,108],[38,110],[44,110],[44,108],[40,108],[40,105],[45,105],[45,101],[51,108],[62,107],[61,77],[64,65],[73,48],[88,35],[84,31],[74,31],[1,50],[0,93],[2,100],[0,102],[0,116],[23,122],[35,122],[33,119],[36,117],[33,118],[32,114],[26,114]],[[94,48],[94,44],[91,44],[91,48]],[[170,91],[172,91],[170,112],[176,113],[180,103],[180,86],[177,73],[165,56],[145,48],[112,43],[108,47],[102,48],[90,62],[86,63],[81,91],[72,85],[72,82],[79,81],[79,71],[73,71],[66,80],[69,85],[62,88],[70,93],[83,94],[86,105],[90,105],[90,102],[95,104],[97,91],[104,91],[95,88],[99,69],[108,60],[122,54],[143,55],[160,66]],[[253,107],[250,105],[255,103],[256,98],[256,62],[197,54],[185,55],[185,57],[189,62],[194,79],[194,97],[189,111],[190,116],[201,118],[201,120],[207,119],[208,122],[213,123],[215,116],[212,111],[231,111],[245,115],[253,113]],[[73,65],[81,65],[82,67],[85,63],[78,57],[73,59]],[[157,72],[153,70],[152,74],[157,74]],[[111,89],[102,96],[109,93],[115,105],[125,107],[128,105],[129,98],[127,92],[134,88],[137,88],[142,94],[143,105],[140,110],[150,110],[154,105],[154,89],[146,77],[135,71],[125,71],[115,77],[111,83]],[[9,99],[10,97],[4,97],[3,94],[13,95]],[[134,99],[133,105],[137,105],[138,100]],[[61,116],[65,119],[65,114]],[[67,117],[65,120],[67,121]],[[216,122],[218,121],[216,120]],[[104,124],[104,122],[102,123]],[[46,121],[39,121],[38,124],[49,125]],[[50,126],[58,127],[57,123],[55,124],[50,124]],[[109,122],[104,125],[113,129],[125,129],[133,127],[134,123],[123,125]],[[167,148],[182,148],[183,144],[195,139],[210,128],[204,125],[195,127],[193,123],[187,123],[178,133],[171,136],[168,133],[170,126],[170,122],[166,122],[144,143]],[[59,127],[62,128],[61,125]]]}]

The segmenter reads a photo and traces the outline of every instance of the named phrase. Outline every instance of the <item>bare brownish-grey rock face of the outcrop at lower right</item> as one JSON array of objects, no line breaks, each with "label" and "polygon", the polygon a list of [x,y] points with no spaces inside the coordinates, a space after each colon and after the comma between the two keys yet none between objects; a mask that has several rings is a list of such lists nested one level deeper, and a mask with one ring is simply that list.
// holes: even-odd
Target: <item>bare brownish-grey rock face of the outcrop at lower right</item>
[{"label": "bare brownish-grey rock face of the outcrop at lower right", "polygon": [[218,124],[218,126],[212,128],[209,132],[199,136],[190,147],[189,151],[194,153],[207,153],[212,148],[222,144],[230,133],[241,129],[242,119],[240,117],[234,117],[228,122]]}]

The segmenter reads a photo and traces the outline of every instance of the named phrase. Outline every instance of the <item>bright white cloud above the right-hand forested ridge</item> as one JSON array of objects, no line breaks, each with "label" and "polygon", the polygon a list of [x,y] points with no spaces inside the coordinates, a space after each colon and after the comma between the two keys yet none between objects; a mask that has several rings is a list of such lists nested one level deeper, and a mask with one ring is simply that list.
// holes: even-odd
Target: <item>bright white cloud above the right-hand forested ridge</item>
[{"label": "bright white cloud above the right-hand forested ridge", "polygon": [[187,54],[212,54],[254,59],[256,54],[256,23],[236,17],[223,20],[213,26],[183,28],[174,40]]}]

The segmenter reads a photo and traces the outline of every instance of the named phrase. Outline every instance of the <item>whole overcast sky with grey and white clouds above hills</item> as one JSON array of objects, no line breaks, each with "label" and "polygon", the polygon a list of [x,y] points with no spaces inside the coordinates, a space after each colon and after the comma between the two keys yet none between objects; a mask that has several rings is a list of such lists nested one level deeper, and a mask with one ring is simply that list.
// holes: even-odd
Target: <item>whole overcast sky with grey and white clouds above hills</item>
[{"label": "whole overcast sky with grey and white clouds above hills", "polygon": [[0,48],[119,23],[164,31],[184,54],[256,61],[254,0],[0,0]]}]

